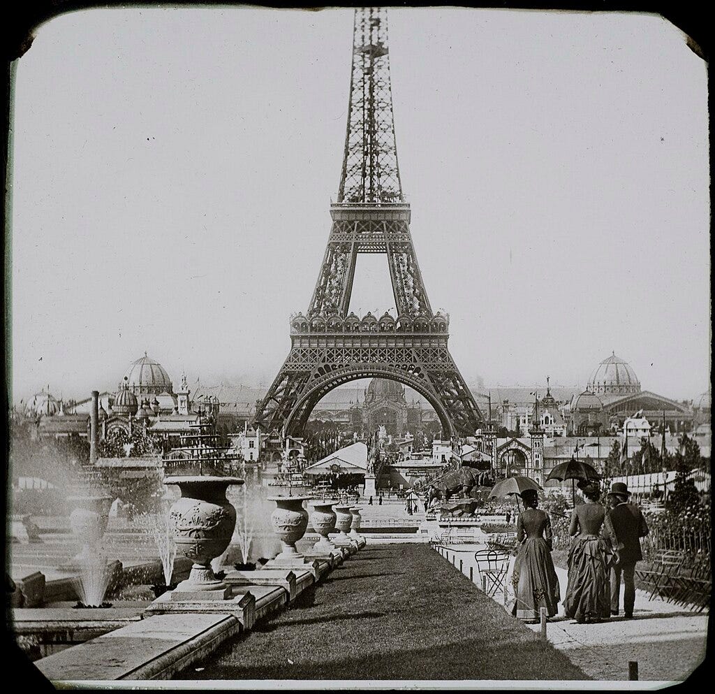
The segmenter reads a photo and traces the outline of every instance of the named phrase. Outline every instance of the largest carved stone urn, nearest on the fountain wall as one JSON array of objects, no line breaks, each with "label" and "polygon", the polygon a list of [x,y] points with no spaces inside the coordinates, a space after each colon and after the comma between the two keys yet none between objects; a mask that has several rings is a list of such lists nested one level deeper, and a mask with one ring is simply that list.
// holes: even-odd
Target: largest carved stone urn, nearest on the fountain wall
[{"label": "largest carved stone urn, nearest on the fountain wall", "polygon": [[189,577],[177,585],[172,599],[224,600],[230,595],[230,587],[214,574],[211,560],[226,551],[236,527],[236,509],[226,498],[226,489],[243,482],[240,477],[214,475],[164,479],[164,484],[176,484],[181,491],[181,498],[169,509],[177,554],[194,562]]}]

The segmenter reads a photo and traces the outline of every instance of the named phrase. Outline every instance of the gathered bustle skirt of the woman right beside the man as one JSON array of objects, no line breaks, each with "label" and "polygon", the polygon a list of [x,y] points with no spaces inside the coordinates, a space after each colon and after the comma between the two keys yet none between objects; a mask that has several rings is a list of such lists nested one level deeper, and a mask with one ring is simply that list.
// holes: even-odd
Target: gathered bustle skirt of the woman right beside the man
[{"label": "gathered bustle skirt of the woman right beside the man", "polygon": [[573,541],[563,600],[566,617],[594,622],[611,616],[610,556],[606,542],[596,535],[579,535]]}]

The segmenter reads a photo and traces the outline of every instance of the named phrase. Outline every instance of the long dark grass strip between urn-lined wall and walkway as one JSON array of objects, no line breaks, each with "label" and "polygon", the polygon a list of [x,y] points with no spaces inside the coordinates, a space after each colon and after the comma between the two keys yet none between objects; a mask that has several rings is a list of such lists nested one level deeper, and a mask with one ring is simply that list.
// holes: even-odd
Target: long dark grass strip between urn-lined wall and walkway
[{"label": "long dark grass strip between urn-lined wall and walkway", "polygon": [[589,679],[423,544],[368,546],[308,592],[177,679]]}]

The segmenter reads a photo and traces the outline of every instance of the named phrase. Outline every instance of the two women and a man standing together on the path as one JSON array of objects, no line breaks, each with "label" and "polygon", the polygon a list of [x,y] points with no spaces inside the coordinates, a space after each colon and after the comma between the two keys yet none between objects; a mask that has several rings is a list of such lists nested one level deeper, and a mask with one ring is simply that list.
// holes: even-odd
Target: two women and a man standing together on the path
[{"label": "two women and a man standing together on the path", "polygon": [[[636,562],[643,558],[640,538],[648,534],[646,520],[623,482],[614,482],[608,492],[608,509],[598,499],[598,482],[580,482],[586,503],[571,514],[568,534],[573,537],[568,552],[568,584],[563,600],[566,617],[579,623],[594,623],[619,614],[623,582],[623,617],[633,617],[636,602]],[[516,596],[513,615],[526,622],[558,614],[561,591],[551,558],[551,519],[538,509],[538,495],[529,489],[520,494],[524,510],[516,522],[518,554],[512,583]]]}]

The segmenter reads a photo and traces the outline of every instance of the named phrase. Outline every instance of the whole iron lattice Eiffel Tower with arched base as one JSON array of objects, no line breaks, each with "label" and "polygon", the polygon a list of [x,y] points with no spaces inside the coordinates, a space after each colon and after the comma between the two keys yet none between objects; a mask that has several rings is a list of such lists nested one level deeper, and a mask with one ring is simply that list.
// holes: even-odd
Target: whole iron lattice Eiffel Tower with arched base
[{"label": "whole iron lattice Eiffel Tower with arched base", "polygon": [[[483,417],[447,348],[449,316],[433,313],[410,235],[390,89],[387,10],[355,9],[345,153],[332,226],[310,307],[290,320],[291,348],[254,426],[300,435],[320,399],[358,378],[391,378],[433,406],[443,436]],[[358,253],[384,253],[397,317],[347,315]]]}]

